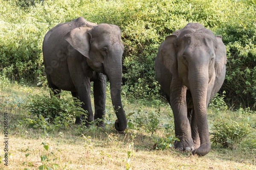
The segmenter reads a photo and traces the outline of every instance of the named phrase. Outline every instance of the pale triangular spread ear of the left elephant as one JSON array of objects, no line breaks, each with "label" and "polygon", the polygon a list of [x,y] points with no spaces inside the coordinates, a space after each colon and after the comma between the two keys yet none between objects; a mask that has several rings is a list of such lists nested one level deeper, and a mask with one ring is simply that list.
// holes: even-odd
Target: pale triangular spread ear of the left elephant
[{"label": "pale triangular spread ear of the left elephant", "polygon": [[85,57],[89,58],[90,52],[90,37],[89,31],[93,29],[92,27],[79,27],[71,30],[67,33],[64,39],[70,43],[70,45],[83,54]]}]

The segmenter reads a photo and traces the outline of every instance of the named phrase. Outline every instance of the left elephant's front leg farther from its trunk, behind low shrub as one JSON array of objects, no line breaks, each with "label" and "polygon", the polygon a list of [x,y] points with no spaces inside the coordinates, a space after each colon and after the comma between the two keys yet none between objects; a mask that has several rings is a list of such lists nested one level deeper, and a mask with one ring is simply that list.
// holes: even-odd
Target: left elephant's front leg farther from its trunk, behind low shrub
[{"label": "left elephant's front leg farther from its trunk, behind low shrub", "polygon": [[[76,87],[77,88],[77,98],[83,102],[81,107],[85,111],[85,115],[87,116],[85,125],[90,125],[90,122],[94,120],[93,118],[93,109],[90,100],[90,79],[85,79],[83,84]],[[74,93],[73,93],[74,94]],[[76,117],[76,124],[81,124],[84,116]]]}]

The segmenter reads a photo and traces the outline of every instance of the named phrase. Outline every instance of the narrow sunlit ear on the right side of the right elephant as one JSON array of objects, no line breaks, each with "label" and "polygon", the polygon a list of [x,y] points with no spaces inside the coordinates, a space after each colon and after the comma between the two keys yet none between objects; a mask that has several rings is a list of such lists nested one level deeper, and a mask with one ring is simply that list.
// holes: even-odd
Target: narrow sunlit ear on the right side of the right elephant
[{"label": "narrow sunlit ear on the right side of the right elephant", "polygon": [[219,77],[221,74],[223,67],[227,64],[227,55],[226,55],[226,47],[221,40],[221,36],[216,36],[217,45],[215,50],[215,74],[216,77]]}]

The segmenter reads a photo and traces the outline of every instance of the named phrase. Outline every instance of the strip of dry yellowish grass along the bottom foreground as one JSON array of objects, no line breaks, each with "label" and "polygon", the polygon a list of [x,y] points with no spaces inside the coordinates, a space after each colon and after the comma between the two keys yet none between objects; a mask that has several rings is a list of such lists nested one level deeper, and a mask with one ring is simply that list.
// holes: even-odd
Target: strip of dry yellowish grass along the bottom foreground
[{"label": "strip of dry yellowish grass along the bottom foreground", "polygon": [[[54,136],[49,139],[32,139],[29,137],[31,136],[29,133],[23,137],[10,135],[9,153],[11,155],[8,168],[11,170],[21,170],[24,168],[38,169],[38,165],[41,165],[40,156],[46,155],[51,160],[59,158],[59,160],[47,163],[47,166],[58,164],[60,166],[59,169],[125,169],[128,159],[129,142],[122,142],[124,134],[113,133],[112,135],[112,137],[116,137],[114,142],[109,141],[108,137],[100,137],[92,138],[91,144],[85,142],[82,136],[70,136],[70,134],[64,138]],[[105,135],[103,134],[103,136]],[[3,135],[0,136],[0,139],[3,139]],[[49,144],[48,151],[44,149],[42,142]],[[230,158],[231,151],[226,151],[227,153],[224,154],[212,150],[207,156],[197,157],[191,156],[189,153],[180,153],[176,150],[152,151],[147,148],[137,149],[137,140],[135,140],[134,155],[131,157],[130,166],[134,170],[256,169],[253,161],[244,160],[243,156],[241,156],[241,159],[232,160]],[[27,153],[30,155],[26,157]],[[29,162],[33,164],[33,167],[29,167]],[[3,163],[0,164],[0,168],[4,168]]]}]

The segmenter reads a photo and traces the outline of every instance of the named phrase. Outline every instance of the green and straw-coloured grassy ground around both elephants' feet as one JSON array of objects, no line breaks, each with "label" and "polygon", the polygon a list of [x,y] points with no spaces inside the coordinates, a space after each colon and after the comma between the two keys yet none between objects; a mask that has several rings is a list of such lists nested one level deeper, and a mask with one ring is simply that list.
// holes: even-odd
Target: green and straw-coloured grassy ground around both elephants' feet
[{"label": "green and straw-coloured grassy ground around both elephants' feet", "polygon": [[[128,129],[124,133],[118,133],[113,126],[116,116],[112,111],[107,88],[104,130],[95,125],[89,128],[74,125],[74,122],[69,123],[68,128],[53,128],[54,124],[47,125],[49,129],[45,130],[29,126],[26,120],[32,117],[26,106],[29,100],[27,96],[36,94],[47,96],[48,89],[17,83],[8,85],[2,83],[0,89],[1,125],[4,123],[4,113],[8,113],[9,169],[256,169],[256,114],[248,109],[230,111],[223,109],[219,103],[218,105],[212,103],[212,108],[208,111],[210,132],[213,132],[213,125],[218,119],[225,118],[230,122],[247,121],[250,134],[236,141],[232,149],[213,143],[209,154],[197,157],[189,152],[179,152],[172,147],[174,122],[171,109],[167,104],[141,105],[139,100],[129,102],[123,97],[124,109],[129,115]],[[62,94],[64,99],[68,99],[69,96],[71,94],[67,92]],[[1,128],[1,140],[4,139],[3,132]],[[156,144],[158,144],[158,150],[156,150]],[[167,145],[168,147],[164,147]],[[1,148],[4,148],[3,142],[1,142]],[[0,169],[6,168],[3,150],[0,158]]]}]

